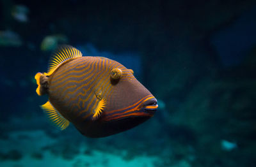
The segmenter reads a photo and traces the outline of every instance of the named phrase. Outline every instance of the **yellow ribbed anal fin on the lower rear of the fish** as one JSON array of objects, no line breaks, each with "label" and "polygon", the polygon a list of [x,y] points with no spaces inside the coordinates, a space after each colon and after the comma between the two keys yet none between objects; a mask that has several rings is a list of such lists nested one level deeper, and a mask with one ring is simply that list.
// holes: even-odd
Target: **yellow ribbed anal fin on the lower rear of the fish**
[{"label": "yellow ribbed anal fin on the lower rear of the fish", "polygon": [[48,115],[52,123],[60,127],[61,130],[64,130],[68,127],[69,121],[65,119],[55,108],[52,106],[50,101],[47,101],[44,105],[41,106],[44,112]]}]

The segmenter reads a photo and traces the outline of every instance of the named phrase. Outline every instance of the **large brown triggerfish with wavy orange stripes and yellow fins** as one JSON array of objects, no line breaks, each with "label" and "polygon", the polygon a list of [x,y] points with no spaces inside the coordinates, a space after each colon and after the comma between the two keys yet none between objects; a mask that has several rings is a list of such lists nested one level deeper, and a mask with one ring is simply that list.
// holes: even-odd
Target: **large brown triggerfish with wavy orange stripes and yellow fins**
[{"label": "large brown triggerfish with wavy orange stripes and yellow fins", "polygon": [[47,73],[36,73],[41,106],[51,122],[66,129],[70,122],[89,138],[127,131],[153,117],[157,99],[132,69],[106,57],[83,56],[70,45],[52,54]]}]

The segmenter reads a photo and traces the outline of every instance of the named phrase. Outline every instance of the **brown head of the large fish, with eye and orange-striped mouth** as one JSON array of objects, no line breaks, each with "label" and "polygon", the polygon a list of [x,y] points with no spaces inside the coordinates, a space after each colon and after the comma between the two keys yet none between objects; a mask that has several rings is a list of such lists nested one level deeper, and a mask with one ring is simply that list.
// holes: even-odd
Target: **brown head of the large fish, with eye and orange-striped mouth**
[{"label": "brown head of the large fish, with eye and orange-striped mouth", "polygon": [[106,94],[103,122],[140,124],[154,115],[157,99],[133,75],[132,69],[120,65],[109,73],[111,91]]}]

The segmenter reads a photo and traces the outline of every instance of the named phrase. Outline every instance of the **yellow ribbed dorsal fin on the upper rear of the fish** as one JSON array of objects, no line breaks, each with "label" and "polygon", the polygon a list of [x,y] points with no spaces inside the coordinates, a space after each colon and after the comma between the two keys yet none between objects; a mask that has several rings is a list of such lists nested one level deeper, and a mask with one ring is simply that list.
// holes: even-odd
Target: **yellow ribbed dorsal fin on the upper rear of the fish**
[{"label": "yellow ribbed dorsal fin on the upper rear of the fish", "polygon": [[48,72],[44,75],[51,75],[63,62],[76,57],[82,57],[82,53],[74,47],[69,45],[62,45],[52,54],[52,57],[49,61]]}]

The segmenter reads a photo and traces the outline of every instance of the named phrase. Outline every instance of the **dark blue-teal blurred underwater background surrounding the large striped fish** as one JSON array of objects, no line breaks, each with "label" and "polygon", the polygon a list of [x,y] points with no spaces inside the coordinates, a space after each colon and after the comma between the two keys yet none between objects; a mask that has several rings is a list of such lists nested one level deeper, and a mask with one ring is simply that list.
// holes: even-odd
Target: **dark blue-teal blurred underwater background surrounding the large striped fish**
[{"label": "dark blue-teal blurred underwater background surrounding the large striped fish", "polygon": [[[0,166],[256,166],[256,1],[0,1]],[[52,126],[35,74],[61,44],[134,71],[159,103],[106,138]]]}]

